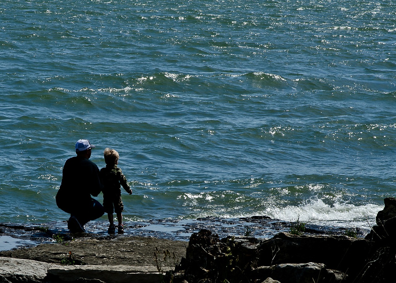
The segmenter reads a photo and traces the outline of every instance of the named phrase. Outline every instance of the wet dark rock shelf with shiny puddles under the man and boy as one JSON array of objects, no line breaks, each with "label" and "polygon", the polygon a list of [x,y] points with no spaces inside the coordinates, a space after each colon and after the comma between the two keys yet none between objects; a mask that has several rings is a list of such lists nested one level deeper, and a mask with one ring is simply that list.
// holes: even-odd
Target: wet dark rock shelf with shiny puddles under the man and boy
[{"label": "wet dark rock shelf with shiny puddles under the man and boy", "polygon": [[[267,216],[252,216],[246,218],[216,218],[206,217],[193,220],[150,220],[147,222],[126,222],[124,236],[155,237],[175,241],[189,241],[192,233],[208,229],[219,237],[228,235],[244,236],[247,234],[258,239],[270,238],[282,231],[289,231],[292,222],[271,219]],[[87,237],[117,237],[109,235],[107,221],[91,221],[86,226]],[[306,225],[305,233],[312,235],[340,235],[346,228]],[[356,229],[358,237],[364,237],[370,229]],[[84,235],[83,235],[84,236]],[[55,243],[55,237],[65,240],[75,238],[67,229],[67,222],[20,225],[0,223],[0,250],[33,247],[41,243]],[[78,237],[81,237],[79,235]]]}]

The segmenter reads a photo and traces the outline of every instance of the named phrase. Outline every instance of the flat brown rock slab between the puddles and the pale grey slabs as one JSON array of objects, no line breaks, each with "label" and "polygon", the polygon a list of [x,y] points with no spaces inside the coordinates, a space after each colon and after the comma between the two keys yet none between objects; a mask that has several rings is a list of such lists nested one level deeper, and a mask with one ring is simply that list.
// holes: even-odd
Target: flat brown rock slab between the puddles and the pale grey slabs
[{"label": "flat brown rock slab between the puddles and the pale grey slabs", "polygon": [[185,256],[187,243],[148,237],[76,238],[63,243],[0,252],[0,256],[62,265],[153,266],[168,270]]}]

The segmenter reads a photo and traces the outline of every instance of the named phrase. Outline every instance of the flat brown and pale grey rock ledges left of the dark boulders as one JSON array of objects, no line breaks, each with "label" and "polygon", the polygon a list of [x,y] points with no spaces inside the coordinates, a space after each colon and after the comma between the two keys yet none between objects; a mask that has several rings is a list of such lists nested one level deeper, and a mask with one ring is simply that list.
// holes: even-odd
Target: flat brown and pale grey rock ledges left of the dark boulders
[{"label": "flat brown and pale grey rock ledges left of the dark boulders", "polygon": [[[82,237],[0,252],[0,283],[161,283],[187,242]],[[69,264],[69,265],[66,265]]]}]

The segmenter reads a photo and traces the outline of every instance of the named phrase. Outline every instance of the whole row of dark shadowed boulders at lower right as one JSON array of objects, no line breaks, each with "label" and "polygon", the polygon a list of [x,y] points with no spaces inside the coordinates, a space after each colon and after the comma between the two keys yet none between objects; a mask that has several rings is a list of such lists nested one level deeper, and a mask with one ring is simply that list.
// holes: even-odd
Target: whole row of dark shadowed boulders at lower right
[{"label": "whole row of dark shadowed boulders at lower right", "polygon": [[385,199],[365,238],[291,235],[271,239],[226,237],[211,231],[191,236],[186,257],[167,283],[369,283],[394,282],[396,199]]}]

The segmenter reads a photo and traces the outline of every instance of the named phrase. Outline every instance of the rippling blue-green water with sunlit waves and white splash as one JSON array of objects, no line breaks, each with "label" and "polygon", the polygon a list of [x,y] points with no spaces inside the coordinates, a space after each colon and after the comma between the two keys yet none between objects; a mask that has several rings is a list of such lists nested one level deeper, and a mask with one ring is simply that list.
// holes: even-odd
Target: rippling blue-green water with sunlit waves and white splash
[{"label": "rippling blue-green water with sunlit waves and white splash", "polygon": [[54,197],[88,138],[99,168],[105,147],[120,153],[126,222],[369,228],[396,189],[394,11],[386,0],[3,1],[0,222],[67,220]]}]

